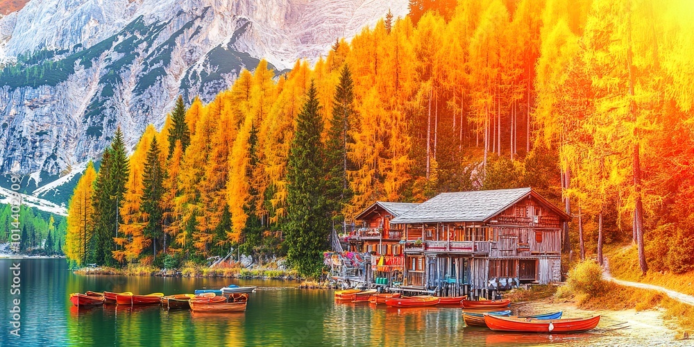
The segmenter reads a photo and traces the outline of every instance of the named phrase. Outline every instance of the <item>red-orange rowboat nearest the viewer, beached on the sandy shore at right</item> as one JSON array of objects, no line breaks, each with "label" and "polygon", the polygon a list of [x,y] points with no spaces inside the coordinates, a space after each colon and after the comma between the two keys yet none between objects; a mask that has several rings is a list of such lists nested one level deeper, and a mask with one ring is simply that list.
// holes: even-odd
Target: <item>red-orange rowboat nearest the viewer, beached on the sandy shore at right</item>
[{"label": "red-orange rowboat nearest the viewer, beached on the sandy shore at right", "polygon": [[582,332],[600,323],[600,316],[585,319],[511,318],[484,314],[484,323],[495,331],[517,332]]}]

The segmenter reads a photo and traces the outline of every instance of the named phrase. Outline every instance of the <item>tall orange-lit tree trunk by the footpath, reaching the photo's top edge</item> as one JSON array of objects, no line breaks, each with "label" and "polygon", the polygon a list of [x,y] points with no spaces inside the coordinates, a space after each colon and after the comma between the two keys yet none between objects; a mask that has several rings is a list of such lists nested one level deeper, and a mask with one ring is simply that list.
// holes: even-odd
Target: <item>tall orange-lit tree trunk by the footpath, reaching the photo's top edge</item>
[{"label": "tall orange-lit tree trunk by the footpath, reaching the photo's top edge", "polygon": [[[629,101],[629,114],[634,124],[637,124],[636,101],[634,101],[634,80],[636,76],[633,63],[632,9],[629,7],[630,5],[631,1],[627,1],[627,67],[629,67],[629,96],[631,96]],[[641,201],[641,161],[638,153],[638,126],[634,127],[634,154],[632,162],[632,167],[634,169],[634,194],[636,195],[634,204],[634,218],[636,219],[636,223],[634,223],[634,228],[636,228],[636,244],[638,244],[638,264],[641,266],[641,273],[645,275],[648,271],[648,264],[646,264],[643,246],[643,203]]]}]

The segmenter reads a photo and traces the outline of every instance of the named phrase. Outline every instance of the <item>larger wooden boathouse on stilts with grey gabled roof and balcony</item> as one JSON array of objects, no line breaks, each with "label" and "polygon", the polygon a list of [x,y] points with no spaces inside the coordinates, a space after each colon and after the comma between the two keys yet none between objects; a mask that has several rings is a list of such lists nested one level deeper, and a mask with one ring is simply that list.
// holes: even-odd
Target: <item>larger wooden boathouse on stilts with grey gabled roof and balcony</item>
[{"label": "larger wooden boathouse on stilts with grey gabled roof and balcony", "polygon": [[404,231],[401,287],[489,297],[558,282],[561,223],[569,220],[531,188],[439,194],[389,220]]}]

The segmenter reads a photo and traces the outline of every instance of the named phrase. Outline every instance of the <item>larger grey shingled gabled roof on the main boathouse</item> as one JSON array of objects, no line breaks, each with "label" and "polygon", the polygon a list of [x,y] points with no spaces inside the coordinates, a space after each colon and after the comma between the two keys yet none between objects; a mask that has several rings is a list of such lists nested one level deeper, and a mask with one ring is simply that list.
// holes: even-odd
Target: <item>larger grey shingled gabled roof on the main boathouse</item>
[{"label": "larger grey shingled gabled roof on the main boathouse", "polygon": [[486,221],[532,195],[543,205],[559,214],[561,220],[570,220],[568,214],[533,192],[530,187],[517,189],[480,190],[475,192],[441,193],[400,217],[393,224],[435,223],[454,221]]}]

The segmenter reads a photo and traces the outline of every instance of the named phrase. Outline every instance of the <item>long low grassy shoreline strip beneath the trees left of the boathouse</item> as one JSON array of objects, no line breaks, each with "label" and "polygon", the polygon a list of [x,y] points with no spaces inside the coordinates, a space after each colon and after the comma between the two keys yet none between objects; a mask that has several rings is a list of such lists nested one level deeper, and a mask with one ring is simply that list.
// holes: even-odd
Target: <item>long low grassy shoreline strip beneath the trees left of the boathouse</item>
[{"label": "long low grassy shoreline strip beneath the trees left of the boathouse", "polygon": [[122,276],[163,276],[163,277],[219,277],[219,278],[268,278],[277,280],[299,280],[296,270],[284,270],[273,267],[246,269],[241,266],[214,267],[202,266],[192,262],[180,269],[158,269],[155,266],[133,265],[117,269],[108,266],[81,268],[74,271],[77,275],[122,275]]}]

